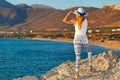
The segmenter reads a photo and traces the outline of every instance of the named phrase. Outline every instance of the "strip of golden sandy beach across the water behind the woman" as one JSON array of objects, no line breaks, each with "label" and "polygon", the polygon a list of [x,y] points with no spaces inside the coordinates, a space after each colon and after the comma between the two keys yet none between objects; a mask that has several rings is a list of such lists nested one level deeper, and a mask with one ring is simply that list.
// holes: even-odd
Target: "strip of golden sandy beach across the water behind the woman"
[{"label": "strip of golden sandy beach across the water behind the woman", "polygon": [[[32,40],[51,40],[51,41],[60,41],[60,42],[73,42],[73,39],[68,38],[56,38],[56,39],[50,39],[50,38],[32,38]],[[98,45],[98,46],[104,46],[106,48],[112,48],[112,49],[118,49],[120,50],[120,41],[92,41],[89,40],[90,44]]]}]

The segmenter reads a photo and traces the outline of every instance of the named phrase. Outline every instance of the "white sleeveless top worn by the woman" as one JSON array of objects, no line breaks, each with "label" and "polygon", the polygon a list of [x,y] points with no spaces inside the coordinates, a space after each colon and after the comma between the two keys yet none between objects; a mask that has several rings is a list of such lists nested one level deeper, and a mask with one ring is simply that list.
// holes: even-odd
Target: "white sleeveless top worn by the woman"
[{"label": "white sleeveless top worn by the woman", "polygon": [[78,29],[78,22],[77,22],[75,24],[75,35],[86,36],[87,26],[88,26],[87,19],[84,19],[80,29]]}]

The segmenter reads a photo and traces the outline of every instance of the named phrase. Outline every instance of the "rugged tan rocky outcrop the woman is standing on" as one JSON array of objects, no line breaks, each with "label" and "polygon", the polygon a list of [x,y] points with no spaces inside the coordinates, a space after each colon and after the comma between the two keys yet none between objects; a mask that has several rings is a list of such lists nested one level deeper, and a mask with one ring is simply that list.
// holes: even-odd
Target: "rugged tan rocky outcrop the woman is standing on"
[{"label": "rugged tan rocky outcrop the woman is standing on", "polygon": [[[88,59],[81,60],[80,77],[77,80],[120,80],[120,58],[113,54],[112,51],[93,56],[93,67],[95,71],[91,73]],[[74,74],[75,63],[68,61],[48,71],[38,80],[76,80]],[[31,79],[19,78],[15,80]]]}]

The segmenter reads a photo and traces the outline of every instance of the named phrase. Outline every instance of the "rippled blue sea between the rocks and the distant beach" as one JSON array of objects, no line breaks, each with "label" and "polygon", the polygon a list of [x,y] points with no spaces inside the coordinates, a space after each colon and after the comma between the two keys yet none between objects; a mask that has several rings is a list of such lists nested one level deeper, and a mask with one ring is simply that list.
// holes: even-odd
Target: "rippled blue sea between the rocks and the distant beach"
[{"label": "rippled blue sea between the rocks and the distant beach", "polygon": [[[91,45],[93,55],[120,50]],[[87,58],[82,48],[81,58]],[[0,38],[0,80],[13,80],[24,76],[37,76],[59,66],[63,62],[75,61],[72,42]]]}]

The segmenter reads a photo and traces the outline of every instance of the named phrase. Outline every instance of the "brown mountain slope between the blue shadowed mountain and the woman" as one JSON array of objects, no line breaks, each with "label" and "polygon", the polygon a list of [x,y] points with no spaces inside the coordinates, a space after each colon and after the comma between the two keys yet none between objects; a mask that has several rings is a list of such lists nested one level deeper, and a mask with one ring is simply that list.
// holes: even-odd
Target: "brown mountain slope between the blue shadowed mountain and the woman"
[{"label": "brown mountain slope between the blue shadowed mountain and the woman", "polygon": [[15,26],[23,29],[64,28],[66,24],[62,22],[63,13],[62,10],[32,8],[27,10],[26,22]]}]

